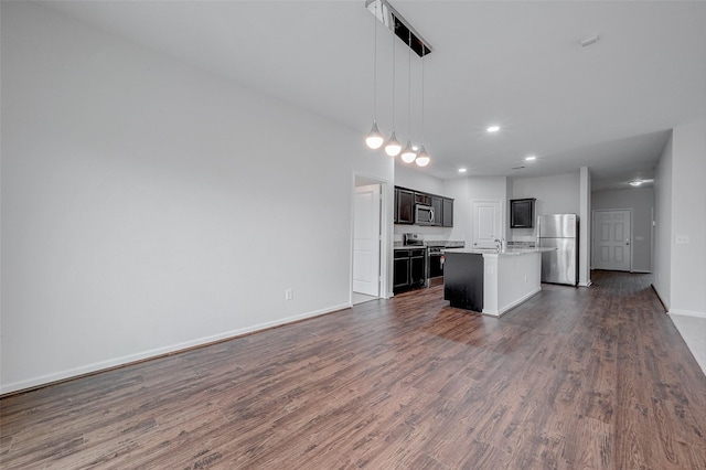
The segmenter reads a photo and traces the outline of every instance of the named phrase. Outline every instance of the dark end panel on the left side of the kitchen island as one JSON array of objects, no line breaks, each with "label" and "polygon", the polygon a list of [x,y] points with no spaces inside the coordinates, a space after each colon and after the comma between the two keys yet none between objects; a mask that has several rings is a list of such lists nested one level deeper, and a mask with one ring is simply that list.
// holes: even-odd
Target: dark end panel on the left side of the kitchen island
[{"label": "dark end panel on the left side of the kitchen island", "polygon": [[483,311],[483,256],[474,253],[446,253],[443,299],[451,307]]}]

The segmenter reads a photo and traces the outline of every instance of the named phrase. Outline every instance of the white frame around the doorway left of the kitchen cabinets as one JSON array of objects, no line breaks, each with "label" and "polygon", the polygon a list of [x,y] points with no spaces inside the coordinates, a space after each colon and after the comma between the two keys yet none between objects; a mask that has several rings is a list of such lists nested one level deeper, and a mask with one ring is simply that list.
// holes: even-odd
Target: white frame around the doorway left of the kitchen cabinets
[{"label": "white frame around the doorway left of the kitchen cabinets", "polygon": [[[351,181],[351,238],[350,238],[350,271],[349,271],[349,306],[353,305],[353,248],[354,248],[354,228],[355,228],[355,188],[368,184],[379,184],[379,298],[389,299],[392,288],[389,285],[392,273],[392,221],[391,212],[391,192],[394,191],[388,180],[368,177],[365,174],[353,172]],[[394,194],[394,193],[393,193]],[[394,199],[394,197],[393,197]],[[389,223],[387,223],[389,221]]]}]

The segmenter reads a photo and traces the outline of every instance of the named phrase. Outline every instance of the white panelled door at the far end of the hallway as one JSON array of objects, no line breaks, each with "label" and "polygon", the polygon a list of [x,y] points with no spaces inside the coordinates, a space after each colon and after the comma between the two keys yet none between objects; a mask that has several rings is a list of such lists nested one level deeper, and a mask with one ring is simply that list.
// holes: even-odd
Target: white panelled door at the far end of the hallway
[{"label": "white panelled door at the far end of the hallway", "polygon": [[629,271],[632,267],[630,211],[593,212],[593,268]]}]

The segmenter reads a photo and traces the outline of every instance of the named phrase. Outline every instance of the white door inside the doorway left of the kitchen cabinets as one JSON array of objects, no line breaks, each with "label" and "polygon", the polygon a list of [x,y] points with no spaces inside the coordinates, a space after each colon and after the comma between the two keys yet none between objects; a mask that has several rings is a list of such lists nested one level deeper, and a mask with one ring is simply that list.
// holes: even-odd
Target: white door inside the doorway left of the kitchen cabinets
[{"label": "white door inside the doorway left of the kitchen cabinets", "polygon": [[379,184],[356,186],[353,204],[353,291],[379,297]]}]

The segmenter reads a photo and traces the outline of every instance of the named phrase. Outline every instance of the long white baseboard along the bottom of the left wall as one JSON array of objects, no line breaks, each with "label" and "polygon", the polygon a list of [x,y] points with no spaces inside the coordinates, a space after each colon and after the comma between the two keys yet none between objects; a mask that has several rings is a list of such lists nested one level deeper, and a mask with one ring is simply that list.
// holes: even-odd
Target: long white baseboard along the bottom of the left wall
[{"label": "long white baseboard along the bottom of the left wall", "polygon": [[185,341],[183,343],[172,344],[164,348],[157,348],[149,351],[143,351],[135,354],[128,354],[121,357],[115,357],[107,361],[95,362],[92,364],[85,364],[78,367],[67,368],[64,371],[55,372],[53,374],[46,374],[39,377],[29,378],[25,381],[13,382],[3,384],[0,386],[0,395],[9,393],[20,392],[28,388],[36,388],[40,386],[46,386],[54,382],[61,382],[68,378],[79,377],[82,375],[93,374],[109,368],[129,365],[136,362],[145,361],[148,359],[154,359],[167,354],[178,353],[180,351],[189,350],[191,348],[203,346],[206,344],[215,343],[218,341],[229,340],[233,338],[242,337],[244,334],[254,333],[256,331],[266,330],[268,328],[280,327],[287,323],[293,323],[296,321],[306,320],[313,317],[331,313],[338,310],[344,310],[351,308],[351,303],[342,303],[340,306],[333,306],[312,312],[301,313],[293,317],[287,317],[279,320],[268,321],[265,323],[254,324],[252,327],[239,328],[237,330],[226,331],[224,333],[213,334],[211,337],[199,338],[192,341]]}]

